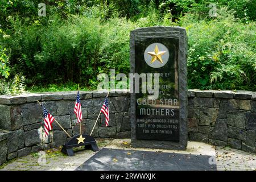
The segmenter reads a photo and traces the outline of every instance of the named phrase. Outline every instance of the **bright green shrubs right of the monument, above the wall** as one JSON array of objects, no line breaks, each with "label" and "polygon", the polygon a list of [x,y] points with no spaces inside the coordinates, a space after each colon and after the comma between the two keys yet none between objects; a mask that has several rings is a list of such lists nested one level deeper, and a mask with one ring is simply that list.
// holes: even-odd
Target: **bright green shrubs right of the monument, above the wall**
[{"label": "bright green shrubs right of the monument, above the wall", "polygon": [[256,90],[254,22],[221,9],[216,19],[188,14],[180,25],[188,32],[189,88]]}]

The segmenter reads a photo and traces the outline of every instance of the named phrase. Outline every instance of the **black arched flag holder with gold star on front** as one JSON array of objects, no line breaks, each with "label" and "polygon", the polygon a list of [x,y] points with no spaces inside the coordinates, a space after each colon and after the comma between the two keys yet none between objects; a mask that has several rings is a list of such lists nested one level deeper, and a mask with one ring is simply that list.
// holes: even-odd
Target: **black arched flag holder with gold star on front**
[{"label": "black arched flag holder with gold star on front", "polygon": [[73,156],[73,147],[84,146],[85,149],[92,150],[94,152],[98,151],[98,146],[96,140],[87,134],[74,135],[71,140],[63,145],[61,152],[67,154],[68,156]]}]

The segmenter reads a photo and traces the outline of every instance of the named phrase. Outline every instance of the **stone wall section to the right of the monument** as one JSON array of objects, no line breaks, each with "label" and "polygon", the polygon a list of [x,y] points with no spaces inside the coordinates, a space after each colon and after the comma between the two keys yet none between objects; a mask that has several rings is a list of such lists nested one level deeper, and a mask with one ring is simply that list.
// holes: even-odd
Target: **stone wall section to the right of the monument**
[{"label": "stone wall section to the right of the monument", "polygon": [[256,93],[189,90],[188,137],[256,152]]}]

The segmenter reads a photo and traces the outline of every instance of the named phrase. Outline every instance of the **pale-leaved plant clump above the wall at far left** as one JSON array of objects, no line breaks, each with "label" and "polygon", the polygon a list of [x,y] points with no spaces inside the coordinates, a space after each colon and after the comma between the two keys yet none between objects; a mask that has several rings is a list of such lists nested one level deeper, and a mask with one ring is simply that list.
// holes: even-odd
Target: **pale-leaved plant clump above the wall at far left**
[{"label": "pale-leaved plant clump above the wall at far left", "polygon": [[0,94],[20,94],[25,91],[26,78],[20,74],[16,74],[14,78],[6,81],[0,80]]}]

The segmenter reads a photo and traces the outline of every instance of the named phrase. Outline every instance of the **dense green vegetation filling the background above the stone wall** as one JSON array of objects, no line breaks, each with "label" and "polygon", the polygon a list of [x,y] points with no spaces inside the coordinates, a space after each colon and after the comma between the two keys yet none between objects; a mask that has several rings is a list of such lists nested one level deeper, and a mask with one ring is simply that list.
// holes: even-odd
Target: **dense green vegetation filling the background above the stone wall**
[{"label": "dense green vegetation filling the background above the stone wall", "polygon": [[[98,73],[127,74],[130,31],[148,26],[186,28],[189,88],[256,90],[253,0],[0,1],[1,94],[24,84],[94,89]],[[38,16],[41,2],[46,16]]]}]

